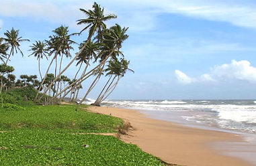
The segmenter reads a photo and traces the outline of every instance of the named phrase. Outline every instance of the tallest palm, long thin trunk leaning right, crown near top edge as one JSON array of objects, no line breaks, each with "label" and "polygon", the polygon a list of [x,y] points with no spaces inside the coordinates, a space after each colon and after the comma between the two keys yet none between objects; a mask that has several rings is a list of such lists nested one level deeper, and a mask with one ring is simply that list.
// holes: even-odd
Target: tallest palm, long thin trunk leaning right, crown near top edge
[{"label": "tallest palm, long thin trunk leaning right, crown near top edge", "polygon": [[[79,19],[77,20],[78,25],[83,25],[85,24],[86,27],[84,27],[80,33],[85,31],[86,29],[89,29],[89,36],[87,37],[87,42],[84,44],[84,46],[81,48],[79,53],[71,60],[71,62],[56,76],[52,84],[48,86],[46,89],[46,92],[50,90],[54,82],[60,78],[60,76],[77,60],[77,57],[83,52],[83,49],[85,49],[86,45],[88,42],[91,40],[91,37],[93,37],[94,33],[97,31],[98,33],[101,33],[103,29],[105,29],[107,26],[105,25],[105,21],[108,21],[110,19],[116,18],[116,15],[110,14],[110,15],[104,15],[104,9],[101,8],[100,5],[97,3],[93,4],[93,10],[85,10],[85,9],[80,9],[85,15],[87,16],[85,19]],[[44,92],[44,93],[46,93]]]}]

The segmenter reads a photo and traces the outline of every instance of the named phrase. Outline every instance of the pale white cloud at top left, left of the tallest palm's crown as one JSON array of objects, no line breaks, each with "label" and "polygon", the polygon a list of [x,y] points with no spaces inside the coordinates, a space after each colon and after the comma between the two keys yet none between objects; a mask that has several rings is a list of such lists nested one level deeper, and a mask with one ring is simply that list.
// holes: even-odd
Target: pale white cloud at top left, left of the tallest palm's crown
[{"label": "pale white cloud at top left, left of the tallest palm's crown", "polygon": [[5,17],[33,17],[54,23],[75,24],[83,15],[79,8],[91,7],[91,2],[71,1],[8,1],[1,0],[0,15]]}]

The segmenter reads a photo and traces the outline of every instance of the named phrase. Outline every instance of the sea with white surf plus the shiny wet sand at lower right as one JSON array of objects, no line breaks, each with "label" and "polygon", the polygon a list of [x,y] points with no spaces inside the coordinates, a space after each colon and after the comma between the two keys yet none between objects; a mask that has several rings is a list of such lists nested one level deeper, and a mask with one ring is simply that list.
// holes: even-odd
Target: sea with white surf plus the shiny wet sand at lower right
[{"label": "sea with white surf plus the shiny wet sand at lower right", "polygon": [[[89,99],[84,104],[91,104]],[[243,142],[212,143],[223,155],[256,165],[256,100],[106,100],[102,106],[132,108],[151,118],[241,135]]]}]

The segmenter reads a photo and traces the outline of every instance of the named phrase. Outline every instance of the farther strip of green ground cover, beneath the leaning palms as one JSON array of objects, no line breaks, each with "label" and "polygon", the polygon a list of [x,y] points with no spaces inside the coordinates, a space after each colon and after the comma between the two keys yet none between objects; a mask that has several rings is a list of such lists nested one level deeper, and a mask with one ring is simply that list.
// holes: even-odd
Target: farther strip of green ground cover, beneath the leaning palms
[{"label": "farther strip of green ground cover, beneath the leaning palms", "polygon": [[26,106],[25,110],[0,109],[0,129],[69,129],[85,133],[114,133],[120,118],[94,114],[81,106]]}]

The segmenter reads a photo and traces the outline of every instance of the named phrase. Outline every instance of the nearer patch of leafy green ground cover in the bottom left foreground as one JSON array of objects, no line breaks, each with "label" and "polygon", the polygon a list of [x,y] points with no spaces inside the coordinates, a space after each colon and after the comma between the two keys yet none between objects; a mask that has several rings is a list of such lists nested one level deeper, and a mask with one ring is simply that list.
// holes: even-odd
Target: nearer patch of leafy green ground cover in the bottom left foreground
[{"label": "nearer patch of leafy green ground cover in the bottom left foreground", "polygon": [[111,136],[19,129],[0,133],[0,165],[148,166],[162,163],[136,145]]}]

